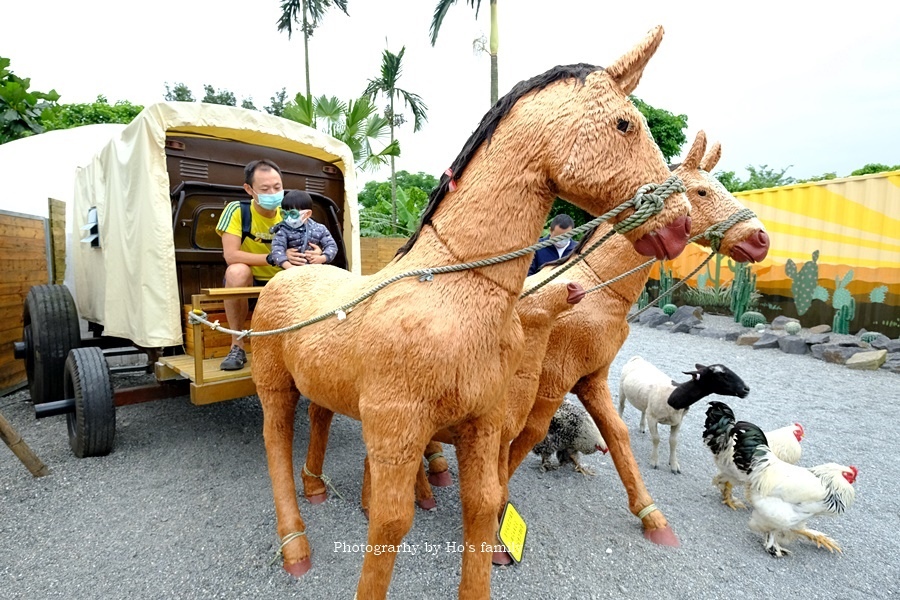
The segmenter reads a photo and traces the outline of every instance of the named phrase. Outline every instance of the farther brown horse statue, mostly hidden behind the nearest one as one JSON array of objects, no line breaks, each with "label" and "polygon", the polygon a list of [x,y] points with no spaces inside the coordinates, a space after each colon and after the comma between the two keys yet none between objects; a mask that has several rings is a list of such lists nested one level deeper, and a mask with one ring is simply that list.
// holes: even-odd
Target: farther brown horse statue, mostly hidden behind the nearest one
[{"label": "farther brown horse statue, mostly hidden behind the nearest one", "polygon": [[[714,144],[704,156],[705,150],[706,134],[701,131],[697,134],[684,163],[675,169],[675,174],[684,182],[691,202],[692,234],[702,233],[746,208],[709,174],[721,156],[721,146]],[[608,230],[608,227],[603,227],[587,235],[576,256]],[[701,239],[700,243],[709,245],[709,240]],[[765,258],[768,245],[768,235],[762,223],[756,218],[751,218],[738,222],[724,232],[719,250],[738,262],[754,262]],[[622,239],[613,239],[592,254],[588,254],[584,263],[567,271],[564,277],[567,279],[571,277],[576,283],[589,288],[644,262],[646,257],[636,253],[630,244]],[[626,323],[628,310],[647,282],[650,270],[651,268],[647,267],[630,275],[621,283],[613,284],[611,289],[588,294],[585,307],[590,307],[589,309],[573,307],[572,310],[577,309],[577,312],[568,314],[565,318],[562,318],[565,313],[560,313],[560,316],[550,323],[526,318],[526,315],[534,312],[533,305],[540,306],[541,303],[536,302],[534,298],[540,297],[546,288],[526,296],[516,304],[528,340],[528,355],[519,363],[506,393],[506,416],[501,433],[499,464],[504,500],[508,495],[509,476],[515,472],[534,444],[546,435],[550,420],[562,403],[563,396],[556,397],[556,394],[562,390],[564,395],[582,377],[593,380],[596,378],[595,371],[609,368],[628,334]],[[546,279],[551,272],[548,267],[528,278],[526,288]],[[602,396],[601,399],[608,398],[608,395],[607,388],[606,396]],[[600,412],[604,414],[597,425],[610,446],[613,461],[628,491],[631,511],[638,515],[646,507],[655,504],[644,486],[634,461],[627,429],[618,415],[606,415],[607,410],[612,407],[611,401],[607,405],[595,402],[593,398],[594,396],[588,395],[583,401],[585,406],[593,408],[591,414],[596,415]],[[306,464],[311,472],[321,473],[331,413],[310,405],[309,417],[310,446]],[[610,439],[607,439],[607,436]],[[447,440],[444,432],[437,438]],[[508,444],[513,440],[515,443],[510,458]],[[433,441],[425,451],[426,457],[440,450],[440,444]],[[446,473],[444,470],[435,469],[436,461],[429,462],[432,475]],[[325,488],[320,479],[304,475],[303,483],[307,498],[313,502],[324,500]],[[369,492],[364,486],[364,509],[368,508],[368,495]],[[434,506],[433,495],[424,471],[419,474],[416,481],[416,501],[423,508]],[[678,544],[660,510],[646,513],[642,521],[645,534],[650,540],[665,545]],[[495,554],[495,559],[497,562],[510,560],[504,557],[504,553]]]}]

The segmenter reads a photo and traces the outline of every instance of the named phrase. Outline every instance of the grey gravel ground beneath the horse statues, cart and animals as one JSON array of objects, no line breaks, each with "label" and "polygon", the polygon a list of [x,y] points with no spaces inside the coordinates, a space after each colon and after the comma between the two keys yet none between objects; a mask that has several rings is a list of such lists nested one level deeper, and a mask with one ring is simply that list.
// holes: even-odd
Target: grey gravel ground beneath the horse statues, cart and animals
[{"label": "grey gravel ground beneath the horse statues, cart and animals", "polygon": [[[638,464],[681,548],[643,539],[608,456],[587,457],[597,475],[585,478],[571,468],[541,473],[531,455],[511,483],[511,499],[529,524],[525,560],[494,571],[494,598],[900,595],[897,375],[635,327],[613,364],[614,390],[621,366],[634,354],[672,375],[695,362],[728,365],[752,389],[744,400],[726,399],[738,418],[763,429],[799,421],[807,432],[803,465],[859,467],[850,511],[812,522],[844,553],[802,542],[783,559],[764,552],[761,538],[747,528],[748,513],[723,506],[711,485],[715,467],[701,440],[705,402],[682,427],[681,475],[648,466],[649,434],[637,432],[639,415],[628,407]],[[255,397],[206,407],[178,398],[121,408],[115,451],[86,460],[69,451],[64,418],[36,421],[25,398],[24,392],[2,398],[0,410],[52,474],[33,479],[0,447],[3,598],[353,597],[363,555],[335,548],[366,540],[358,508],[363,446],[355,421],[335,419],[326,460],[345,499],[332,496],[318,506],[301,500],[314,566],[293,581],[269,566],[276,548],[274,510]],[[301,413],[298,469],[305,425]],[[661,434],[664,464],[668,428]],[[447,454],[455,476],[452,449]],[[437,511],[416,512],[405,541],[418,553],[398,556],[392,598],[456,598],[460,555],[449,545],[461,541],[457,487],[436,489],[436,498]],[[437,550],[426,553],[426,544]]]}]

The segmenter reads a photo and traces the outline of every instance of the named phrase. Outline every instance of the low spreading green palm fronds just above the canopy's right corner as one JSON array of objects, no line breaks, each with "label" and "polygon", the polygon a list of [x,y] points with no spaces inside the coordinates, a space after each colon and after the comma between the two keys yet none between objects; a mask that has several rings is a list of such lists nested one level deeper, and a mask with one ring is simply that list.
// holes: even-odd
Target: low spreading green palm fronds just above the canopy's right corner
[{"label": "low spreading green palm fronds just above the canopy's right corner", "polygon": [[386,164],[389,156],[400,155],[396,141],[375,151],[373,142],[388,135],[388,120],[376,112],[375,105],[365,96],[343,102],[335,96],[310,98],[297,94],[293,102],[285,105],[281,116],[309,127],[315,127],[318,120],[319,130],[350,147],[356,168],[368,171]]}]

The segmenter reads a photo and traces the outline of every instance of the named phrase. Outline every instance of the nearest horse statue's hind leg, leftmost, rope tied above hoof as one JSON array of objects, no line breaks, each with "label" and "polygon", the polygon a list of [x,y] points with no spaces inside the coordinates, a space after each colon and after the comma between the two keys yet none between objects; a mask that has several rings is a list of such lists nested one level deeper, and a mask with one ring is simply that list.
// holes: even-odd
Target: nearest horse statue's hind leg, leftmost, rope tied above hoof
[{"label": "nearest horse statue's hind leg, leftmost, rope tied above hoof", "polygon": [[282,566],[294,577],[300,577],[309,571],[312,560],[294,483],[294,417],[299,395],[293,388],[267,390],[257,385],[256,391],[263,409],[263,438],[272,479],[278,537],[282,541]]}]

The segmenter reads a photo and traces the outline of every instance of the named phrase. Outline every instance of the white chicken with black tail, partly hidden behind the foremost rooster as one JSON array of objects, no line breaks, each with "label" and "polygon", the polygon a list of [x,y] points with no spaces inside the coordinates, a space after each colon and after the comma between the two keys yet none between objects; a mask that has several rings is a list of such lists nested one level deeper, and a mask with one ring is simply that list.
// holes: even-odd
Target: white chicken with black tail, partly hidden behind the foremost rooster
[{"label": "white chicken with black tail, partly hidden behind the foremost rooster", "polygon": [[[703,441],[713,453],[713,460],[719,468],[718,474],[713,477],[713,485],[722,493],[722,504],[732,510],[745,508],[740,500],[734,500],[731,489],[734,486],[743,486],[747,483],[747,475],[734,466],[732,454],[734,441],[731,437],[734,428],[734,411],[724,402],[710,402],[706,409],[706,427],[703,430]],[[784,462],[796,465],[800,462],[803,450],[800,442],[803,440],[803,426],[794,423],[775,431],[766,432],[769,440],[769,448],[775,456]]]}]

